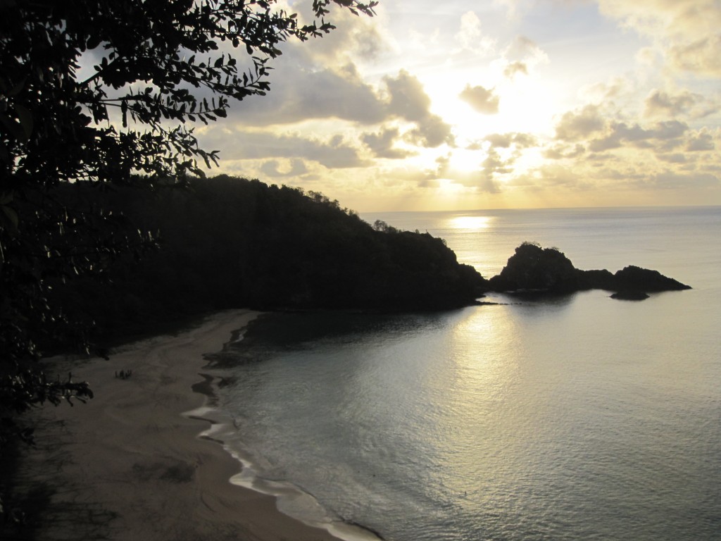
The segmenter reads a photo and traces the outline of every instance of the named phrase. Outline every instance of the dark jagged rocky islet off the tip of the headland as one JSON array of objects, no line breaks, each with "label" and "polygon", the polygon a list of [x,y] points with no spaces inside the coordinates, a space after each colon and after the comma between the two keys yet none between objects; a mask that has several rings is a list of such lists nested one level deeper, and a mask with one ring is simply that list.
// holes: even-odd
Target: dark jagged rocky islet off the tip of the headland
[{"label": "dark jagged rocky islet off the tip of the headland", "polygon": [[691,286],[663,276],[658,271],[628,266],[615,274],[582,271],[563,252],[523,242],[503,271],[488,281],[490,291],[512,293],[566,294],[588,289],[614,291],[613,299],[643,300],[649,293],[680,291]]}]

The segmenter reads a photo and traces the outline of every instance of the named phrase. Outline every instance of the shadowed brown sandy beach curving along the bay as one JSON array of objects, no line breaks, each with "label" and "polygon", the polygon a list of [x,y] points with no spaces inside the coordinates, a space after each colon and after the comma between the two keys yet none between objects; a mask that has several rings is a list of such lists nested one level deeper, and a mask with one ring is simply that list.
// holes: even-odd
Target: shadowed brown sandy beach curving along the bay
[{"label": "shadowed brown sandy beach curving along the bay", "polygon": [[[43,540],[332,541],[276,508],[275,498],[232,485],[239,462],[198,436],[208,422],[182,413],[207,397],[203,354],[221,351],[256,312],[222,312],[193,330],[126,346],[110,361],[74,364],[93,400],[46,407],[37,448],[19,482],[50,489]],[[132,371],[131,377],[116,372]]]}]

